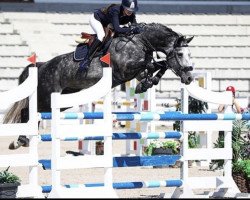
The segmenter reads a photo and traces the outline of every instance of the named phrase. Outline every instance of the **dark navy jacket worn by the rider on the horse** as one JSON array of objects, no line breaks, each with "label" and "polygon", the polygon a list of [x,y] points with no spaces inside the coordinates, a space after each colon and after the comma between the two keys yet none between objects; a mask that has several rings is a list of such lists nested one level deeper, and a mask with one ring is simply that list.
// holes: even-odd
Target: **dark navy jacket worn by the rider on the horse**
[{"label": "dark navy jacket worn by the rider on the horse", "polygon": [[115,32],[127,33],[131,30],[129,27],[120,27],[127,23],[136,23],[135,14],[130,16],[123,15],[123,7],[121,5],[111,5],[108,8],[98,9],[94,12],[96,20],[100,21],[103,27],[107,27],[108,24],[112,24]]}]

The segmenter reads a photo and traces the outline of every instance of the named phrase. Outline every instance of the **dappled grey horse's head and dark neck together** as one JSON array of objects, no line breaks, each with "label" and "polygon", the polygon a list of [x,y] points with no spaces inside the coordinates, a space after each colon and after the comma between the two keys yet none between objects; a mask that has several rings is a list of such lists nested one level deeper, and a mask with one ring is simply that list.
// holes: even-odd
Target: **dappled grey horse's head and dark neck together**
[{"label": "dappled grey horse's head and dark neck together", "polygon": [[188,43],[193,37],[186,38],[162,24],[148,24],[143,27],[145,46],[152,51],[162,52],[167,67],[181,78],[181,82],[190,84],[193,70]]}]

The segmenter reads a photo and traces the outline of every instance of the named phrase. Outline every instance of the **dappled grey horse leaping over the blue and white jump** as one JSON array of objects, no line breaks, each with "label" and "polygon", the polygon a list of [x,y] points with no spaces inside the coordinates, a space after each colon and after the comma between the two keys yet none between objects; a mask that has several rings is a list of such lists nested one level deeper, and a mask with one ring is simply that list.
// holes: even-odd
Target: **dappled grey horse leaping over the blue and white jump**
[{"label": "dappled grey horse leaping over the blue and white jump", "polygon": [[[136,93],[145,92],[158,84],[167,69],[171,69],[180,77],[182,83],[192,82],[193,63],[188,43],[193,37],[186,38],[160,23],[138,23],[131,26],[140,27],[140,33],[118,34],[113,37],[107,49],[111,56],[112,88],[136,78],[140,81]],[[162,58],[161,61],[154,59],[154,52]],[[81,70],[79,62],[74,60],[74,52],[56,56],[47,62],[36,63],[38,112],[51,112],[53,92],[69,94],[96,84],[103,76],[100,56],[104,53],[106,52],[95,56],[84,70]],[[19,84],[28,77],[29,67],[34,65],[30,64],[24,68],[18,78]],[[28,98],[26,98],[13,104],[6,113],[3,123],[25,123],[28,120]],[[13,141],[9,145],[9,149],[28,145],[28,138],[19,136],[17,142]]]}]

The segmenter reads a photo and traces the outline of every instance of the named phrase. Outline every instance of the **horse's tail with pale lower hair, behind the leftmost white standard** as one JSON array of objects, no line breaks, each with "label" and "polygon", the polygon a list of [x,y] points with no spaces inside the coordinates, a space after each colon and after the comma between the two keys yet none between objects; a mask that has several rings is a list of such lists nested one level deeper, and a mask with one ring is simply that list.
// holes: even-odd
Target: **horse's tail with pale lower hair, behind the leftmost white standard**
[{"label": "horse's tail with pale lower hair, behind the leftmost white standard", "polygon": [[[39,66],[41,65],[40,63]],[[22,84],[29,75],[29,67],[33,67],[33,64],[26,66],[18,77],[18,85]],[[3,123],[20,123],[21,122],[21,110],[24,108],[28,108],[29,106],[29,98],[25,98],[21,101],[15,102],[13,106],[8,110],[8,112],[4,115]]]}]

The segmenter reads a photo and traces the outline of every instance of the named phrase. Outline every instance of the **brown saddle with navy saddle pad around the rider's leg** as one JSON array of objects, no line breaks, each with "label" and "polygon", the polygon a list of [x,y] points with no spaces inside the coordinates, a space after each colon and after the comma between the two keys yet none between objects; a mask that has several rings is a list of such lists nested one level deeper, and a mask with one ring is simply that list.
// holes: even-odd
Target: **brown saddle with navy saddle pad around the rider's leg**
[{"label": "brown saddle with navy saddle pad around the rider's leg", "polygon": [[[112,42],[114,32],[111,25],[108,25],[104,28],[105,31],[105,37],[103,39],[102,45],[95,50],[93,57],[98,57],[106,54],[108,51],[109,45]],[[74,60],[76,62],[79,62],[80,70],[84,70],[88,68],[88,65],[90,64],[88,50],[92,42],[97,37],[96,34],[90,34],[86,32],[82,32],[81,36],[76,38],[75,41],[78,43],[75,51],[74,51]]]}]

